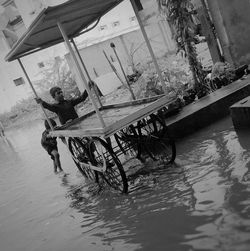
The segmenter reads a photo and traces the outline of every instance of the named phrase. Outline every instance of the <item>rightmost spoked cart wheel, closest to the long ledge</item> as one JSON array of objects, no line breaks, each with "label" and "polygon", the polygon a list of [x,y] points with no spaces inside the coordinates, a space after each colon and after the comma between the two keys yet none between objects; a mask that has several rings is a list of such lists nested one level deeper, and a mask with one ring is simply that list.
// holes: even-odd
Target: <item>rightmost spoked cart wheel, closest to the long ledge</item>
[{"label": "rightmost spoked cart wheel, closest to the long ledge", "polygon": [[153,160],[164,164],[174,162],[175,142],[169,137],[166,125],[158,116],[152,114],[148,119],[139,121],[137,129],[143,149]]}]

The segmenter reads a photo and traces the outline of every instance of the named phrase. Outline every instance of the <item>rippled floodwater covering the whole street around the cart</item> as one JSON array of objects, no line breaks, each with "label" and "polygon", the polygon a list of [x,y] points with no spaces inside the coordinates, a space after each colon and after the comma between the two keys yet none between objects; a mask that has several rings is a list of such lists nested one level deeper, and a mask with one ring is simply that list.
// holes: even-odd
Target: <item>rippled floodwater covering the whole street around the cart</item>
[{"label": "rippled floodwater covering the whole street around the cart", "polygon": [[98,192],[61,142],[69,175],[54,175],[42,130],[0,139],[1,251],[250,250],[250,131],[230,118],[178,142],[176,164],[128,195]]}]

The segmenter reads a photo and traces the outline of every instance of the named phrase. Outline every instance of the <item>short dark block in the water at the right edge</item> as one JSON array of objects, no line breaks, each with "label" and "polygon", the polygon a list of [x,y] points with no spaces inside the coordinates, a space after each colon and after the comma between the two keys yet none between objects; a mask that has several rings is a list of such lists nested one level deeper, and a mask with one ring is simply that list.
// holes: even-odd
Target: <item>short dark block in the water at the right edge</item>
[{"label": "short dark block in the water at the right edge", "polygon": [[236,129],[250,128],[250,96],[232,105],[230,114]]}]

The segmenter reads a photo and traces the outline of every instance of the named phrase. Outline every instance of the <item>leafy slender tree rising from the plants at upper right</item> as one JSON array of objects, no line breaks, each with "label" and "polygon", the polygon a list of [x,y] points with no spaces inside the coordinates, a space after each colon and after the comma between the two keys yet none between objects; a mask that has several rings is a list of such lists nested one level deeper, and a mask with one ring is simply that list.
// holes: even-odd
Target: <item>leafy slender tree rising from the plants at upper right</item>
[{"label": "leafy slender tree rising from the plants at upper right", "polygon": [[191,0],[156,0],[160,12],[168,20],[172,27],[173,36],[178,51],[183,51],[188,58],[190,70],[194,79],[194,89],[198,97],[206,94],[204,87],[205,73],[201,62],[198,60],[195,43],[196,25],[192,15],[195,14],[194,5]]}]

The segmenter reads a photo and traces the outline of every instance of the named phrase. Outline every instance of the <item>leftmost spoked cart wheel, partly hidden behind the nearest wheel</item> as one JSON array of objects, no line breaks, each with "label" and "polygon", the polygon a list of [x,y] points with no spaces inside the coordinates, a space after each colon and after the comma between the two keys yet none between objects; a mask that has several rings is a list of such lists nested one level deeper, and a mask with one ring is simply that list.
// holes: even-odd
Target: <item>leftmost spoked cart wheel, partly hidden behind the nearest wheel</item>
[{"label": "leftmost spoked cart wheel, partly hidden behind the nearest wheel", "polygon": [[69,138],[68,146],[73,156],[73,160],[81,174],[83,174],[86,178],[94,180],[98,183],[97,172],[88,167],[88,148],[85,146],[85,144],[83,144],[83,142],[78,138]]}]

